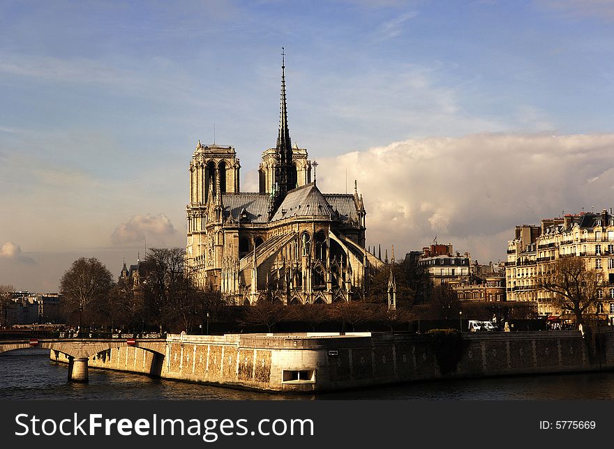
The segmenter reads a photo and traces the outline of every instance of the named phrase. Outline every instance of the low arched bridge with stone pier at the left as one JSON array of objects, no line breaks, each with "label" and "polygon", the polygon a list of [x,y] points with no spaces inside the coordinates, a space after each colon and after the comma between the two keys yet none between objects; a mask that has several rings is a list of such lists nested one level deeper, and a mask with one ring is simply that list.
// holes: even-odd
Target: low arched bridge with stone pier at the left
[{"label": "low arched bridge with stone pier at the left", "polygon": [[43,348],[66,354],[68,380],[77,382],[88,381],[87,360],[90,356],[120,347],[135,347],[158,356],[166,355],[165,338],[31,338],[0,341],[0,353],[15,349]]}]

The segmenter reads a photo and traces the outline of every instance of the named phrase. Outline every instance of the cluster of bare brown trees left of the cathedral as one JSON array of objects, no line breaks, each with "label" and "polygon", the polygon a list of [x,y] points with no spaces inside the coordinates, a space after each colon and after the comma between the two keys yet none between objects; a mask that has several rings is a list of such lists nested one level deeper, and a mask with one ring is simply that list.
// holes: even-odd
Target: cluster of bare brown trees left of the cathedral
[{"label": "cluster of bare brown trees left of the cathedral", "polygon": [[138,267],[139,282],[113,281],[98,259],[73,262],[60,281],[63,312],[73,326],[188,330],[222,307],[220,295],[195,287],[181,248],[152,248]]}]

